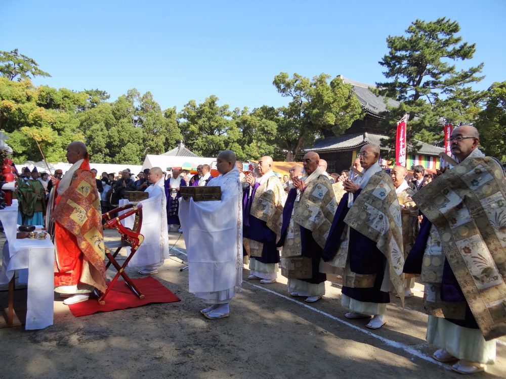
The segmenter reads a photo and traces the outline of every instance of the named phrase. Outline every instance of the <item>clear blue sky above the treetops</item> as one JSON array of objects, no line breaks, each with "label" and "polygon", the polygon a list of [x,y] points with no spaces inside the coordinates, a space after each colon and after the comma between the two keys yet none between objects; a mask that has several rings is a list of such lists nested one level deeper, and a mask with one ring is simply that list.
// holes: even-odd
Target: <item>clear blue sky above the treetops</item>
[{"label": "clear blue sky above the treetops", "polygon": [[99,88],[117,99],[150,91],[162,109],[215,94],[231,108],[287,104],[279,72],[374,84],[388,35],[415,19],[458,21],[485,63],[476,89],[506,80],[506,1],[23,1],[0,0],[0,50],[19,49],[51,78],[35,84]]}]

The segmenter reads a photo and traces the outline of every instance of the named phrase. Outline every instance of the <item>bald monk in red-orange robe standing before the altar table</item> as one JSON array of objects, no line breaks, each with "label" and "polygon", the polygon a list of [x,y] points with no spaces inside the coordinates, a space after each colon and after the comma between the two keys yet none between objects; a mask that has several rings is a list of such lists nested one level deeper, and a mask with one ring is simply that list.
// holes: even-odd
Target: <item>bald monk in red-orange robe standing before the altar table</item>
[{"label": "bald monk in red-orange robe standing before the altar table", "polygon": [[55,292],[67,297],[64,304],[74,304],[88,300],[94,289],[105,291],[105,247],[100,197],[86,145],[70,143],[67,160],[72,167],[61,180],[51,179],[57,191],[52,213]]}]

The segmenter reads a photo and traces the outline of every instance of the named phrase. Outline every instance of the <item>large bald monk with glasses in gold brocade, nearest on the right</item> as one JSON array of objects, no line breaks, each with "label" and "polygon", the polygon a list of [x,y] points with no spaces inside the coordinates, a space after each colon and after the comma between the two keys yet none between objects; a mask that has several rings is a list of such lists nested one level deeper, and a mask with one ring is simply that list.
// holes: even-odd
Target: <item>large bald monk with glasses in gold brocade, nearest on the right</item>
[{"label": "large bald monk with glasses in gold brocade, nearest on the right", "polygon": [[478,149],[474,126],[453,129],[449,139],[455,165],[413,196],[425,217],[404,271],[425,283],[434,359],[470,374],[495,362],[495,339],[506,334],[506,182]]}]

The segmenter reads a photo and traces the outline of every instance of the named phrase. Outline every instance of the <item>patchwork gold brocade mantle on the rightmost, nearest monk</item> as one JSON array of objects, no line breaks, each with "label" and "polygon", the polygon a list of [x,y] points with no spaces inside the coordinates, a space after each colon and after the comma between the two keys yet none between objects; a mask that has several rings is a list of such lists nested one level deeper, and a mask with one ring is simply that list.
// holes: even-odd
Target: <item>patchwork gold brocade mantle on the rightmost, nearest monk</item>
[{"label": "patchwork gold brocade mantle on the rightmost, nearest monk", "polygon": [[451,317],[431,302],[438,299],[446,258],[485,340],[506,335],[506,183],[501,167],[491,158],[468,158],[413,200],[434,229],[422,271],[429,283],[427,308]]}]

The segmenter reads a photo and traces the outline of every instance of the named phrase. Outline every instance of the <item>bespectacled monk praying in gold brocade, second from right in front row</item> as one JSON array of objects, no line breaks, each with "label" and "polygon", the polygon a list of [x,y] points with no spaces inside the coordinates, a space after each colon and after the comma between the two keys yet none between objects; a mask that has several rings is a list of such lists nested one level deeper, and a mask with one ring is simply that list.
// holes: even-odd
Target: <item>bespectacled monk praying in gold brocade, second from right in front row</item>
[{"label": "bespectacled monk praying in gold brocade, second from right in front row", "polygon": [[389,291],[404,301],[401,214],[392,180],[378,165],[379,147],[364,145],[359,158],[364,175],[344,182],[347,193],[322,256],[326,272],[338,272],[329,272],[329,266],[343,272],[341,304],[350,309],[345,316],[367,318],[366,326],[377,329],[386,323]]}]

